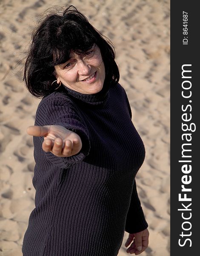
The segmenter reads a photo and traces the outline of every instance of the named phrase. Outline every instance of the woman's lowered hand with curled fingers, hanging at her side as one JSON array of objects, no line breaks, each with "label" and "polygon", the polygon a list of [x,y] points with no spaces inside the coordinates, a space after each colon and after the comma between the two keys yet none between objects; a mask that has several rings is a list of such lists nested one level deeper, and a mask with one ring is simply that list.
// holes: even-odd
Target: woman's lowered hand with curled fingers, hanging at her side
[{"label": "woman's lowered hand with curled fingers, hanging at her side", "polygon": [[[131,243],[132,242],[132,243]],[[126,250],[127,253],[138,255],[142,253],[149,244],[149,231],[145,229],[141,232],[129,234],[125,246],[131,246]]]}]

